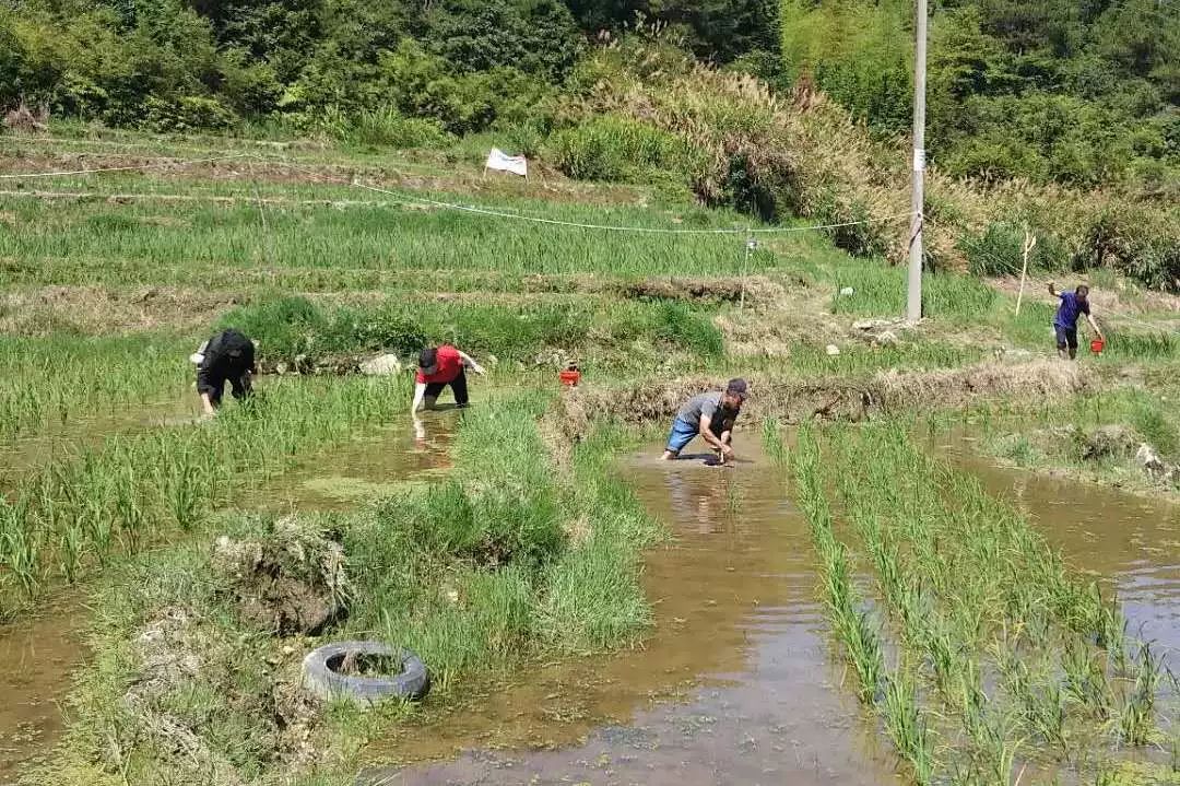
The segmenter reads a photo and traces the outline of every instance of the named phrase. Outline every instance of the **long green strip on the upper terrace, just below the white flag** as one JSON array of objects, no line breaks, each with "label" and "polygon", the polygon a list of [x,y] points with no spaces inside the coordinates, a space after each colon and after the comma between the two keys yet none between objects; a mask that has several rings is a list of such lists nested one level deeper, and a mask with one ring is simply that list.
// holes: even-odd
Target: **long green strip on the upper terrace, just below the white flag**
[{"label": "long green strip on the upper terrace, just below the white flag", "polygon": [[[104,176],[103,185],[119,179]],[[41,183],[42,186],[51,184]],[[68,184],[61,184],[67,186]],[[182,191],[190,185],[178,186]],[[275,186],[263,189],[263,196]],[[290,186],[284,198],[384,199],[365,191]],[[468,203],[455,194],[414,192]],[[477,201],[478,202],[478,201]],[[494,207],[496,203],[490,203]],[[54,281],[84,283],[94,277],[153,283],[191,281],[184,268],[210,269],[266,266],[277,271],[352,269],[379,274],[399,270],[489,270],[502,274],[706,275],[734,274],[745,255],[740,236],[645,235],[562,228],[444,209],[320,205],[230,205],[137,202],[112,208],[103,202],[0,198],[0,210],[14,216],[21,231],[0,224],[0,258],[18,281],[42,277],[24,267],[31,260],[52,263]],[[590,208],[539,201],[513,201],[510,211],[578,223],[628,224],[666,229],[712,229],[745,225],[738,216],[700,209],[680,211],[680,223],[661,211],[642,208]],[[160,216],[165,220],[162,220]],[[740,223],[738,223],[740,222]],[[817,242],[818,238],[817,238]],[[747,273],[763,269],[755,255]],[[90,271],[94,260],[130,269]],[[153,279],[135,271],[150,261]],[[175,270],[175,271],[172,271]],[[172,273],[166,273],[172,271]],[[162,281],[163,276],[166,276]]]}]

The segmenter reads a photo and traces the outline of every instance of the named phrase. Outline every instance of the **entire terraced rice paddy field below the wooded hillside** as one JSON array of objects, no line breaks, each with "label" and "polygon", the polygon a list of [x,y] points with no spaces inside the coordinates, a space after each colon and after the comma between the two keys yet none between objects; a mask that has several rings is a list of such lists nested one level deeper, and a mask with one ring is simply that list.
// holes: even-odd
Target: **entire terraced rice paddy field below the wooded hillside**
[{"label": "entire terraced rice paddy field below the wooded hillside", "polygon": [[[0,137],[0,784],[1180,784],[1180,301],[1095,273],[1069,363],[1045,273],[909,326],[832,229],[480,156]],[[430,695],[309,695],[356,638]]]}]

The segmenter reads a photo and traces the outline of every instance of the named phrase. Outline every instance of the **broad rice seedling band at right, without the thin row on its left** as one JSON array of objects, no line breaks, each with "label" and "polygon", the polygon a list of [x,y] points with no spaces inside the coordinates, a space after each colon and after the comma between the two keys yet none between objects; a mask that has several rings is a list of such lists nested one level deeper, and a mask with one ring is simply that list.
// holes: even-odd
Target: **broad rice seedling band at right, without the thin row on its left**
[{"label": "broad rice seedling band at right, without the thin row on its left", "polygon": [[[1146,739],[1159,668],[1150,648],[1130,659],[1133,687],[1116,712],[1106,669],[1117,674],[1127,659],[1117,603],[1073,574],[1017,511],[909,439],[897,423],[834,430],[828,469],[811,483],[834,484],[897,624],[903,662],[924,667],[911,679],[962,726],[969,764],[955,777],[1008,782],[1024,749],[1069,761],[1073,729],[1084,740],[1112,716],[1120,739]],[[990,669],[1003,686],[998,701],[983,689]]]}]

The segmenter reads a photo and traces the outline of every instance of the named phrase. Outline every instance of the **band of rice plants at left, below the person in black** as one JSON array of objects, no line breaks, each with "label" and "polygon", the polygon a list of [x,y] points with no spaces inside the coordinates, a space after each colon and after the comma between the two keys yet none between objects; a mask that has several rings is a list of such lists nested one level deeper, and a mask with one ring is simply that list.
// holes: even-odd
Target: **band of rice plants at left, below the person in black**
[{"label": "band of rice plants at left, below the person in black", "polygon": [[0,617],[26,610],[46,584],[192,530],[299,454],[404,413],[407,385],[282,380],[212,421],[112,437],[32,471],[0,499]]}]

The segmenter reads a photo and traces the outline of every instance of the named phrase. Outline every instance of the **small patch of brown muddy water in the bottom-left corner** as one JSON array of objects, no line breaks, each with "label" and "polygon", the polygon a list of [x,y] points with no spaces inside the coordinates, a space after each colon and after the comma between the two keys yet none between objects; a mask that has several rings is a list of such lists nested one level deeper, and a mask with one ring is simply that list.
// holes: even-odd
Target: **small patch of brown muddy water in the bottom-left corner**
[{"label": "small patch of brown muddy water in the bottom-left corner", "polygon": [[37,620],[0,625],[0,784],[46,755],[61,732],[66,675],[81,659],[83,615],[72,601]]}]

